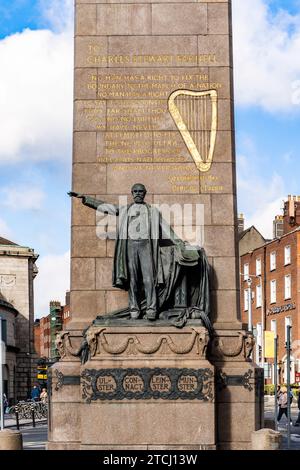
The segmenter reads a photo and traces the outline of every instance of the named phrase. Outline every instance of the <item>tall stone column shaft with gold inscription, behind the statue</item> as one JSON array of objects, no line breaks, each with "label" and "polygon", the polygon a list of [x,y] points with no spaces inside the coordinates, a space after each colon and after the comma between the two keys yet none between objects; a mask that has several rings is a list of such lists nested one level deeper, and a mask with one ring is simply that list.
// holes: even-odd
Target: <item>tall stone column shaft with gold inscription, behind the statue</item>
[{"label": "tall stone column shaft with gold inscription, behind the statue", "polygon": [[[236,327],[230,2],[80,0],[75,47],[74,191],[118,202],[140,181],[150,203],[203,204],[214,321]],[[168,98],[178,89],[218,93],[207,173],[199,173],[169,113]],[[84,326],[127,305],[127,296],[111,287],[113,241],[96,237],[95,212],[73,204],[72,319]]]}]

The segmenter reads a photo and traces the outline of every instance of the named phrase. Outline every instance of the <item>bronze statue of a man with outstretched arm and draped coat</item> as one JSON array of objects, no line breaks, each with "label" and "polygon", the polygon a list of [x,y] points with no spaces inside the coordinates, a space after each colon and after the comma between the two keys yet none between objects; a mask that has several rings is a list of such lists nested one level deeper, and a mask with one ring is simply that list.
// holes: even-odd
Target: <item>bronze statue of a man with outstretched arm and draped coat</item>
[{"label": "bronze statue of a man with outstretched arm and draped coat", "polygon": [[117,313],[154,321],[162,312],[177,309],[177,315],[180,311],[186,316],[187,309],[194,308],[208,317],[209,267],[204,251],[187,246],[160,211],[145,202],[143,184],[134,184],[131,193],[133,202],[124,206],[69,193],[88,207],[119,217],[112,284],[129,292],[129,309]]}]

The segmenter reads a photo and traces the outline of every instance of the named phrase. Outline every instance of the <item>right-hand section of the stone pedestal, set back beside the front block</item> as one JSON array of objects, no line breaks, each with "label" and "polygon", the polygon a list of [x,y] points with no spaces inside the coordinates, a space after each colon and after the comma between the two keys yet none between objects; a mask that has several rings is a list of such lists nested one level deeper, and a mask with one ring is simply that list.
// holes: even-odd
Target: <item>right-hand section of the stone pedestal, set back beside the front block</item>
[{"label": "right-hand section of the stone pedestal, set back beside the front block", "polygon": [[251,360],[254,338],[234,325],[215,325],[208,358],[216,368],[217,448],[251,450],[264,425],[263,370]]}]

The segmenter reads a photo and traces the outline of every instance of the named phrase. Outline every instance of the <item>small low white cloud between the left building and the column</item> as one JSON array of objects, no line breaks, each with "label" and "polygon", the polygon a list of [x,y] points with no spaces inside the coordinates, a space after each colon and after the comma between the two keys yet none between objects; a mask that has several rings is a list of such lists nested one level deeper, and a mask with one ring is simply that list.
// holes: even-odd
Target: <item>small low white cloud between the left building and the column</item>
[{"label": "small low white cloud between the left building and the column", "polygon": [[34,281],[34,300],[35,315],[40,318],[48,315],[51,300],[64,305],[66,291],[70,289],[70,252],[42,256],[37,266],[39,273]]}]

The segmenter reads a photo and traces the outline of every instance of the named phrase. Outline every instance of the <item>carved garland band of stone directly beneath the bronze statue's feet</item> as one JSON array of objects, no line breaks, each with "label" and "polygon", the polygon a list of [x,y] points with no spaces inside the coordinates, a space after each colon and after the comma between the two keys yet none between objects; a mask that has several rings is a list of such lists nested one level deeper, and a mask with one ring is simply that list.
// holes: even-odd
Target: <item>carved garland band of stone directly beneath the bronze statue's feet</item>
[{"label": "carved garland band of stone directly beneath the bronze statue's feet", "polygon": [[101,356],[168,356],[193,355],[205,359],[209,342],[208,331],[203,327],[187,330],[159,328],[149,331],[90,327],[86,332],[90,357]]}]

